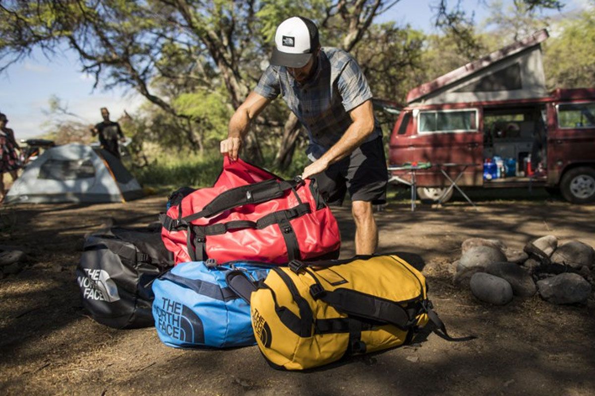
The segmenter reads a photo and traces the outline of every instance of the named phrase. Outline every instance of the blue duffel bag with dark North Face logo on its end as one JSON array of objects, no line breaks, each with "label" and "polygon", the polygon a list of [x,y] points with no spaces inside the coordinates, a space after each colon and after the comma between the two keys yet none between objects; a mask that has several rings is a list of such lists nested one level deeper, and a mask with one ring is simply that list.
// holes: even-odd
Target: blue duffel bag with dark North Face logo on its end
[{"label": "blue duffel bag with dark North Face logo on its end", "polygon": [[153,282],[153,317],[161,341],[174,348],[229,348],[256,344],[250,306],[227,286],[232,270],[263,280],[271,266],[253,261],[224,265],[185,262]]}]

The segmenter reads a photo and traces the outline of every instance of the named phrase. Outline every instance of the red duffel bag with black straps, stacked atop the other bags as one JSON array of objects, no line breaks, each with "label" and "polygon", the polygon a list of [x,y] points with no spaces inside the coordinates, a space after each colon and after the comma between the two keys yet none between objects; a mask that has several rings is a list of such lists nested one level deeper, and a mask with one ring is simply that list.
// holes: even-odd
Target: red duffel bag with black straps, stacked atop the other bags
[{"label": "red duffel bag with black straps, stacked atop the other bags", "polygon": [[337,258],[339,227],[315,180],[282,180],[224,157],[211,188],[181,199],[161,216],[161,237],[177,263],[214,259],[285,264]]}]

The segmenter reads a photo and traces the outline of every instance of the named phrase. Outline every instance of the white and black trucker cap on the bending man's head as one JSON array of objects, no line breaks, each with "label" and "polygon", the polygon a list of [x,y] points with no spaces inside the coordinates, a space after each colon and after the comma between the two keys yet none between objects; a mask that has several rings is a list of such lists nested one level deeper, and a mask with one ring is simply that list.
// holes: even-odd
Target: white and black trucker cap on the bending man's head
[{"label": "white and black trucker cap on the bending man's head", "polygon": [[316,24],[303,17],[291,17],[277,27],[271,64],[300,68],[320,46]]}]

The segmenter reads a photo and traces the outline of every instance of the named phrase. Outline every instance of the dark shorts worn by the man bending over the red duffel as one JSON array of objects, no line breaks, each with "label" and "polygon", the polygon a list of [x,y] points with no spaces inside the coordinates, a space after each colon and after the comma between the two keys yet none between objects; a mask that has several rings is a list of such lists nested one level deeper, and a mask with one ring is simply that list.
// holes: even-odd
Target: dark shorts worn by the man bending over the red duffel
[{"label": "dark shorts worn by the man bending over the red duffel", "polygon": [[347,191],[352,201],[386,203],[389,172],[382,137],[363,143],[349,157],[312,178],[317,180],[322,197],[329,205],[341,205]]}]

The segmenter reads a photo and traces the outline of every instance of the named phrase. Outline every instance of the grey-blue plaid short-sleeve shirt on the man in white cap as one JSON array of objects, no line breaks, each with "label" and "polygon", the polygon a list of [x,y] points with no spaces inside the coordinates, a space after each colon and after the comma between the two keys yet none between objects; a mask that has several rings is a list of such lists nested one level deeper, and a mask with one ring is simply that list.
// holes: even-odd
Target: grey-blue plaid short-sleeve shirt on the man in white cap
[{"label": "grey-blue plaid short-sleeve shirt on the man in white cap", "polygon": [[[268,99],[281,95],[289,109],[308,130],[308,156],[322,156],[353,122],[349,112],[372,99],[368,81],[347,52],[323,47],[314,76],[299,84],[284,66],[268,66],[254,91]],[[378,122],[365,141],[382,135]]]}]

